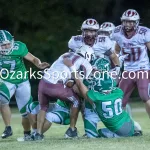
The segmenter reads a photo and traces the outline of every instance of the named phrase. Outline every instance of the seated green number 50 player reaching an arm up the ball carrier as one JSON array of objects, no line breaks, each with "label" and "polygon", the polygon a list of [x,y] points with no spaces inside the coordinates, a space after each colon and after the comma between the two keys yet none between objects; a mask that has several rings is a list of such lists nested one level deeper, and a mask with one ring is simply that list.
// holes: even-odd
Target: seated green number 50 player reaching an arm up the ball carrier
[{"label": "seated green number 50 player reaching an arm up the ball carrier", "polygon": [[[135,134],[135,125],[130,116],[122,109],[123,92],[121,89],[114,87],[113,80],[104,74],[103,78],[96,78],[97,84],[93,90],[88,90],[82,83],[76,70],[69,59],[64,60],[73,72],[76,85],[81,95],[93,107],[93,110],[100,117],[104,125],[112,133],[110,137],[133,136]],[[100,132],[101,136],[105,135]],[[115,136],[114,136],[115,135]]]}]

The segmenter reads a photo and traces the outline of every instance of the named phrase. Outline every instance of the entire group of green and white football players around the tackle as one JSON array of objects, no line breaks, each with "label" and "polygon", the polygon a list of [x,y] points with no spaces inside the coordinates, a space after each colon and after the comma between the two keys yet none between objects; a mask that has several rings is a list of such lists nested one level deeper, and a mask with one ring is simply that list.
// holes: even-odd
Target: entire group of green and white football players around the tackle
[{"label": "entire group of green and white football players around the tackle", "polygon": [[[49,64],[41,63],[28,52],[24,43],[14,41],[9,32],[0,30],[0,101],[6,125],[2,138],[12,135],[8,104],[13,94],[23,117],[24,141],[43,140],[44,132],[52,123],[70,124],[65,137],[78,137],[79,111],[85,135],[89,138],[142,135],[140,125],[124,110],[137,86],[150,116],[150,82],[144,73],[149,71],[150,31],[139,26],[139,19],[139,14],[129,9],[123,13],[122,24],[117,27],[111,22],[104,22],[99,27],[95,19],[85,20],[81,26],[82,35],[69,40],[69,52],[44,71],[38,102],[32,101],[23,58],[39,69],[45,69]],[[122,75],[120,64],[124,67]],[[14,78],[11,78],[12,74]],[[57,102],[49,105],[53,100]],[[106,128],[97,129],[100,121]]]}]

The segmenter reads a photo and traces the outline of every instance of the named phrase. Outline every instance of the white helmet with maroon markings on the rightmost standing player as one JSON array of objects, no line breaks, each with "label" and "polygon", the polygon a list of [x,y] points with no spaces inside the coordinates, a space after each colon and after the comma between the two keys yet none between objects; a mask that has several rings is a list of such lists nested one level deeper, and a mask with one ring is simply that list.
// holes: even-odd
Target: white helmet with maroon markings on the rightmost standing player
[{"label": "white helmet with maroon markings on the rightmost standing player", "polygon": [[139,20],[140,20],[140,16],[139,16],[138,12],[134,9],[126,10],[121,17],[122,22],[123,21],[135,21],[134,30],[137,29],[137,27],[139,25]]}]

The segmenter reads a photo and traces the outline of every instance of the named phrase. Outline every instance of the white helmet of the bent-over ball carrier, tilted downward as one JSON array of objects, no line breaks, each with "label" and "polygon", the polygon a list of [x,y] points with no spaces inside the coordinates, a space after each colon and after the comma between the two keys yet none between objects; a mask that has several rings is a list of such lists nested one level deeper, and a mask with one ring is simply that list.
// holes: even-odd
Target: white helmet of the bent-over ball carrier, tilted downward
[{"label": "white helmet of the bent-over ball carrier, tilted downward", "polygon": [[95,58],[93,48],[88,45],[82,45],[76,50],[76,53],[84,57],[88,62],[91,62]]}]

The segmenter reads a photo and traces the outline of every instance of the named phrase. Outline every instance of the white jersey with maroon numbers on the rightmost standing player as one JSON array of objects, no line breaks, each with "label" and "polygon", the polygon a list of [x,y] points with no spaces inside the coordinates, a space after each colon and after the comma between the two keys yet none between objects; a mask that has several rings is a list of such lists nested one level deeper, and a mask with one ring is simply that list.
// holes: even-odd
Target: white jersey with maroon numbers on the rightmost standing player
[{"label": "white jersey with maroon numbers on the rightmost standing player", "polygon": [[133,37],[127,38],[122,26],[116,27],[113,39],[121,48],[121,55],[129,54],[125,58],[124,69],[127,71],[148,70],[149,58],[145,43],[150,41],[150,30],[147,27],[138,26]]}]

